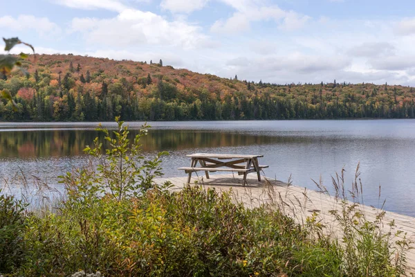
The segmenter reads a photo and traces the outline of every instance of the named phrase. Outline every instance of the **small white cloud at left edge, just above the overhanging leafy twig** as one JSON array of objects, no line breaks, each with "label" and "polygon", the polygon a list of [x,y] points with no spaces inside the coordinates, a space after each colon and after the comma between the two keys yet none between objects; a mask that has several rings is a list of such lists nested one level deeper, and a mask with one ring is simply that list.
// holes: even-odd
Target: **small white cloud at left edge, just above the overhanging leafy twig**
[{"label": "small white cloud at left edge, just above the overhanging leafy twig", "polygon": [[0,17],[0,28],[10,30],[36,30],[39,35],[51,35],[60,33],[61,29],[57,24],[50,22],[46,17],[34,17],[33,15],[19,15]]}]

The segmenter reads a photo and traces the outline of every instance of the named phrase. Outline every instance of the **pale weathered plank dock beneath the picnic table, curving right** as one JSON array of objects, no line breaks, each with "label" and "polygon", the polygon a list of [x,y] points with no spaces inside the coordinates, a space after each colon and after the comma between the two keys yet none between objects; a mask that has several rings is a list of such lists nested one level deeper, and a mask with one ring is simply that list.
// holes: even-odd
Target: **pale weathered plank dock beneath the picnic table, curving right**
[{"label": "pale weathered plank dock beneath the picnic table, curving right", "polygon": [[[185,186],[187,177],[166,177],[155,180],[158,184],[165,181],[172,182],[172,190],[180,190]],[[340,211],[341,203],[335,197],[320,193],[315,190],[307,190],[299,186],[288,186],[288,184],[275,179],[262,178],[248,175],[248,186],[243,186],[243,181],[237,174],[217,175],[212,174],[206,179],[204,174],[192,177],[191,184],[200,184],[205,188],[215,188],[219,191],[232,190],[234,199],[243,202],[247,207],[254,208],[261,204],[272,204],[282,209],[286,215],[290,215],[299,224],[303,224],[308,216],[317,213],[317,220],[320,220],[327,228],[330,235],[340,238],[341,232],[336,223],[335,217],[329,211]],[[378,208],[370,206],[359,206],[360,211],[367,220],[374,221],[381,212]],[[394,227],[389,223],[394,222]],[[415,217],[400,215],[398,213],[386,212],[382,220],[382,229],[385,232],[402,231],[403,233],[394,240],[400,240],[406,233],[406,238],[415,247]],[[407,252],[407,274],[415,274],[415,249]]]}]

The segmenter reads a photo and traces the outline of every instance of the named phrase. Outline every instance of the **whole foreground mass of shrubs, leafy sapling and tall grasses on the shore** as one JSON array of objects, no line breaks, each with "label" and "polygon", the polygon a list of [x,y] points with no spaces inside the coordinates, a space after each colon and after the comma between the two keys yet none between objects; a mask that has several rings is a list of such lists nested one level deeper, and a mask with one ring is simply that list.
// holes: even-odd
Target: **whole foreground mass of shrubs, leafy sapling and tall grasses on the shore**
[{"label": "whole foreground mass of shrubs, leafy sapling and tall grasses on the shore", "polygon": [[[384,212],[376,218],[365,216],[356,201],[362,199],[358,170],[349,193],[343,171],[333,177],[338,204],[330,212],[334,223],[328,225],[320,211],[308,208],[313,201],[306,190],[302,198],[288,197],[291,181],[284,193],[268,184],[266,199],[255,204],[241,201],[232,190],[185,186],[173,191],[169,184],[158,185],[154,177],[160,176],[163,154],[144,160],[140,137],[130,142],[127,132],[119,122],[113,137],[105,133],[109,149],[102,150],[98,140],[87,147],[95,163],[62,177],[65,195],[38,206],[41,212],[30,210],[28,199],[1,195],[1,274],[405,274],[409,244],[405,236],[394,239],[402,234],[385,232]],[[328,193],[321,181],[316,184]]]}]

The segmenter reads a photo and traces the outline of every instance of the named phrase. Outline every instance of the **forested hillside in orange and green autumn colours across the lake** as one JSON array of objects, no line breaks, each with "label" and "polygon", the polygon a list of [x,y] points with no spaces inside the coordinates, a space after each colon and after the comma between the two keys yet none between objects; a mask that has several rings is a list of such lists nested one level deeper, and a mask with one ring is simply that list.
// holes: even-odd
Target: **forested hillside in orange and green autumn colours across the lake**
[{"label": "forested hillside in orange and green autumn colours across the lake", "polygon": [[[0,120],[239,120],[415,118],[412,87],[268,84],[172,66],[78,55],[37,55],[0,80],[18,105]],[[341,77],[341,76],[340,76]]]}]

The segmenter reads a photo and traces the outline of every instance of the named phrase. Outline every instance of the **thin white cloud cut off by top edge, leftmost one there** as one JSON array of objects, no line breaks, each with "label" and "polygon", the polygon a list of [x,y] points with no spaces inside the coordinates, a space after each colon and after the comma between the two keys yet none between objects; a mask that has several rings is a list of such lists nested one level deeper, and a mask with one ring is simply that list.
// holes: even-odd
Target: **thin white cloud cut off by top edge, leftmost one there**
[{"label": "thin white cloud cut off by top edge, leftmost one there", "polygon": [[82,10],[96,10],[102,8],[105,10],[122,12],[122,10],[127,9],[127,6],[125,6],[122,1],[118,0],[59,0],[57,3],[69,8]]}]

